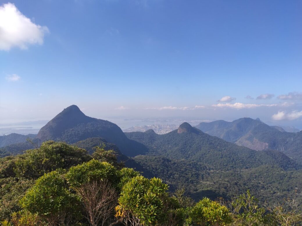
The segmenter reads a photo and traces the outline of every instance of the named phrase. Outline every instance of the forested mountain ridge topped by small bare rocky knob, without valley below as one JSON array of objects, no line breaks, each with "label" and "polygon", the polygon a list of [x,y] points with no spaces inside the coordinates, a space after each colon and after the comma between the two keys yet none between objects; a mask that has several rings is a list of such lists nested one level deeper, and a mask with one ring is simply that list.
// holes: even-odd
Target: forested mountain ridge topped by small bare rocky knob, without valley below
[{"label": "forested mountain ridge topped by small bare rocky knob, without valley below", "polygon": [[280,152],[255,151],[238,146],[210,136],[187,122],[164,135],[158,135],[152,130],[125,134],[129,139],[144,144],[149,155],[197,161],[217,170],[247,169],[265,164],[277,165],[284,169],[298,167],[293,160]]}]

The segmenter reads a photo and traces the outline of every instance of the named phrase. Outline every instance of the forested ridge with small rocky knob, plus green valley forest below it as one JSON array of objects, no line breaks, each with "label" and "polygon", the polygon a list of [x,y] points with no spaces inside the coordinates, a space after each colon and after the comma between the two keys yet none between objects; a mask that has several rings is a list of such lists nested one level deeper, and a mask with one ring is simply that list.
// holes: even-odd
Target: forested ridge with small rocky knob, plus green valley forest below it
[{"label": "forested ridge with small rocky knob, plus green valley forest below it", "polygon": [[188,123],[165,135],[153,130],[126,135],[147,147],[127,166],[162,178],[171,190],[185,187],[196,200],[231,198],[250,189],[262,202],[277,202],[302,189],[301,166],[277,150],[240,147]]}]

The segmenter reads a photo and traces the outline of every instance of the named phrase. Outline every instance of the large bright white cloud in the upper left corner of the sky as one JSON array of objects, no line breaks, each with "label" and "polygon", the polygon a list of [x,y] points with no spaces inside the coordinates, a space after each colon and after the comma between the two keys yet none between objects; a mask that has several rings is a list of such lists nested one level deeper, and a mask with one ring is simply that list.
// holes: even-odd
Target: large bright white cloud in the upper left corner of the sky
[{"label": "large bright white cloud in the upper left corner of the sky", "polygon": [[12,3],[0,6],[0,50],[12,47],[27,49],[30,44],[43,44],[49,30],[46,26],[33,23]]}]

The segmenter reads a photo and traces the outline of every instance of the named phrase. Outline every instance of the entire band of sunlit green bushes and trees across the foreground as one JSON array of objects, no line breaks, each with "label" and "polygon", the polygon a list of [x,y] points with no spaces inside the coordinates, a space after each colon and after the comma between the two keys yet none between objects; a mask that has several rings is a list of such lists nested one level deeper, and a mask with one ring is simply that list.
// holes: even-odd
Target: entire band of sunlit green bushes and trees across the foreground
[{"label": "entire band of sunlit green bushes and trees across the foreground", "polygon": [[295,198],[259,205],[248,190],[233,199],[169,192],[117,163],[113,150],[47,141],[39,149],[0,159],[1,225],[299,225]]}]

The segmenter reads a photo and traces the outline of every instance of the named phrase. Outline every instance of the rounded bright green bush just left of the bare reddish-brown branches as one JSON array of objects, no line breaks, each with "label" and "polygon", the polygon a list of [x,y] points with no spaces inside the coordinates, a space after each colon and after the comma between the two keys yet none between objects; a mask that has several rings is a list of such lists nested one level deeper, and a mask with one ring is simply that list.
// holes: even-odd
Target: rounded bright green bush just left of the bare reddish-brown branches
[{"label": "rounded bright green bush just left of the bare reddish-brown branches", "polygon": [[[21,207],[37,214],[51,224],[62,224],[66,216],[79,212],[79,200],[70,193],[66,181],[58,171],[52,171],[37,179],[20,200]],[[77,214],[79,216],[79,213]]]}]

